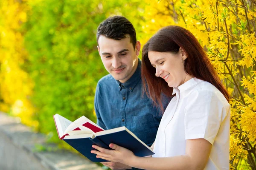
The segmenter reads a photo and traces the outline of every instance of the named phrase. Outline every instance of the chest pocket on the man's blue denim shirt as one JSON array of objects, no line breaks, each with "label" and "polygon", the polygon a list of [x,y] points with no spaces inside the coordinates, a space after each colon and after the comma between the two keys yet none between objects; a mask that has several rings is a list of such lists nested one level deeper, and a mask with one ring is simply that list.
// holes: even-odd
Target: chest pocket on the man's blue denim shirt
[{"label": "chest pocket on the man's blue denim shirt", "polygon": [[157,135],[155,121],[153,115],[132,116],[133,133],[148,146],[153,144]]}]

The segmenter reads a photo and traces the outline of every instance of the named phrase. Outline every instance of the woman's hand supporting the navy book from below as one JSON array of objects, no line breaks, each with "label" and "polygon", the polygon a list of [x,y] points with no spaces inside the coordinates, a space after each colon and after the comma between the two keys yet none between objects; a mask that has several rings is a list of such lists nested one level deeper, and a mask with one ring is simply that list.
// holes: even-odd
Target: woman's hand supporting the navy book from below
[{"label": "woman's hand supporting the navy book from below", "polygon": [[105,159],[107,161],[120,162],[122,164],[131,166],[133,160],[136,158],[131,150],[120,147],[116,144],[109,144],[109,147],[113,150],[104,149],[97,145],[93,145],[92,147],[96,149],[91,151],[91,153],[97,155],[96,158]]}]

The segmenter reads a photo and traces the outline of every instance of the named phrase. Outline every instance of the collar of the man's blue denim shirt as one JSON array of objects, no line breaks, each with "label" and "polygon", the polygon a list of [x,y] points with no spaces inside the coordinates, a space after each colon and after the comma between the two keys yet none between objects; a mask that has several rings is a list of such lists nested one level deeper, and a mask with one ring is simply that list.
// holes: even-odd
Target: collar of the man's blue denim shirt
[{"label": "collar of the man's blue denim shirt", "polygon": [[138,67],[130,79],[128,79],[124,83],[121,83],[118,80],[116,80],[116,84],[118,85],[119,91],[122,90],[122,88],[127,88],[129,91],[133,91],[134,87],[137,85],[137,83],[141,79],[141,75],[140,75],[141,60],[140,59],[138,60],[139,60]]}]

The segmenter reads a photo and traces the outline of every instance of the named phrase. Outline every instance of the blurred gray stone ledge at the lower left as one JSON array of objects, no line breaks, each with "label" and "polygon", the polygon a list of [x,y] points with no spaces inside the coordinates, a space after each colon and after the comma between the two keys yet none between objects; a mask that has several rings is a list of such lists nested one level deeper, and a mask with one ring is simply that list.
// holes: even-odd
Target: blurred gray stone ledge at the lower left
[{"label": "blurred gray stone ledge at the lower left", "polygon": [[[45,141],[45,135],[0,112],[0,170],[102,170],[85,157]],[[38,151],[38,146],[55,151]]]}]

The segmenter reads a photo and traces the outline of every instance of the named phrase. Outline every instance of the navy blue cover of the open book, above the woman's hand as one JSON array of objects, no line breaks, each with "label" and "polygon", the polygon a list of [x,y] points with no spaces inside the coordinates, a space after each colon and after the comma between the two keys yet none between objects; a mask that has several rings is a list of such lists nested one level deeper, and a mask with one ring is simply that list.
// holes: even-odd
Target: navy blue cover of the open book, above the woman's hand
[{"label": "navy blue cover of the open book, above the woman's hand", "polygon": [[96,154],[90,153],[91,150],[95,150],[92,147],[93,144],[106,149],[111,149],[108,146],[109,144],[114,143],[131,150],[134,155],[140,157],[154,154],[150,147],[138,139],[137,136],[126,127],[117,127],[94,134],[65,136],[63,140],[93,162],[106,161],[96,158]]}]

